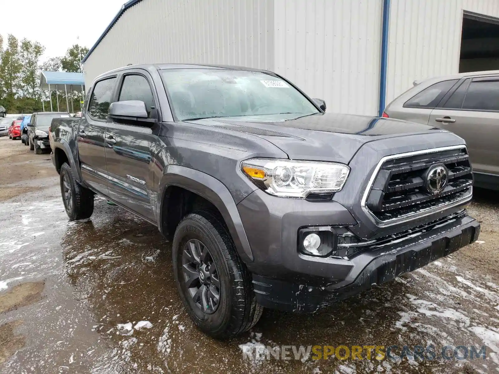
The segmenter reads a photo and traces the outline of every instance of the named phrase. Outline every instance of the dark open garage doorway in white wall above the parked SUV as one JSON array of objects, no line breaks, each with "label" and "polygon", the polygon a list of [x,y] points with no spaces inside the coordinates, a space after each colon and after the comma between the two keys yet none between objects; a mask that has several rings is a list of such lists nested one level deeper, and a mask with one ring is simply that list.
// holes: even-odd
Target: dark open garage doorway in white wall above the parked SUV
[{"label": "dark open garage doorway in white wall above the parked SUV", "polygon": [[465,12],[459,72],[499,70],[499,19]]}]

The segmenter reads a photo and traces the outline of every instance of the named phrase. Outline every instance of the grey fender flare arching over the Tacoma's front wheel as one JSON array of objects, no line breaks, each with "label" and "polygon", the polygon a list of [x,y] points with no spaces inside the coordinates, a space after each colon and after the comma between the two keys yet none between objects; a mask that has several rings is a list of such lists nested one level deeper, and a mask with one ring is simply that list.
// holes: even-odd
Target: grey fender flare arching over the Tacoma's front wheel
[{"label": "grey fender flare arching over the Tacoma's front wheel", "polygon": [[[246,237],[243,222],[239,215],[236,202],[229,189],[219,180],[200,172],[198,170],[186,168],[179,165],[169,165],[160,181],[159,196],[164,196],[166,188],[177,186],[194,192],[217,207],[229,228],[236,249],[244,262],[252,262],[253,254],[250,243]],[[163,204],[165,199],[158,199],[157,208],[159,211],[158,227],[163,222]]]}]

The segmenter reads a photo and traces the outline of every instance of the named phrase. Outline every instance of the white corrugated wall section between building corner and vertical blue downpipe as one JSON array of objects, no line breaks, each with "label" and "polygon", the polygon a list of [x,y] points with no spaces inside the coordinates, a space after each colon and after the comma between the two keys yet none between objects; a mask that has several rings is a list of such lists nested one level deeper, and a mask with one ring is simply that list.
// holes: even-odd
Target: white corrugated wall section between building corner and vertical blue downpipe
[{"label": "white corrugated wall section between building corner and vertical blue downpipe", "polygon": [[382,0],[274,0],[274,70],[328,112],[376,114]]}]

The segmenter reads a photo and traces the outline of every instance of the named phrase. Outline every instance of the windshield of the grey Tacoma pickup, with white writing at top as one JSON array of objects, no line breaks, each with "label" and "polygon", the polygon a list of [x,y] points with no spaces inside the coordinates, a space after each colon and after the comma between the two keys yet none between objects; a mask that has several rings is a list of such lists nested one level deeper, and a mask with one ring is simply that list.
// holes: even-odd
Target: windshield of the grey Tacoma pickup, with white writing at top
[{"label": "windshield of the grey Tacoma pickup, with white writing at top", "polygon": [[313,114],[317,108],[287,82],[259,71],[161,70],[178,120]]}]

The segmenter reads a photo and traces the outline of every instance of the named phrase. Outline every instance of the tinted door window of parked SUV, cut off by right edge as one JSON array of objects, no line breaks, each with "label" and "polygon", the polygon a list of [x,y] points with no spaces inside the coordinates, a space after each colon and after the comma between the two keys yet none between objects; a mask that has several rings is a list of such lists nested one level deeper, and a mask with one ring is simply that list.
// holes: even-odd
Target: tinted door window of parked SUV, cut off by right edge
[{"label": "tinted door window of parked SUV, cut off by right edge", "polygon": [[499,77],[474,78],[466,93],[463,109],[499,111]]}]

